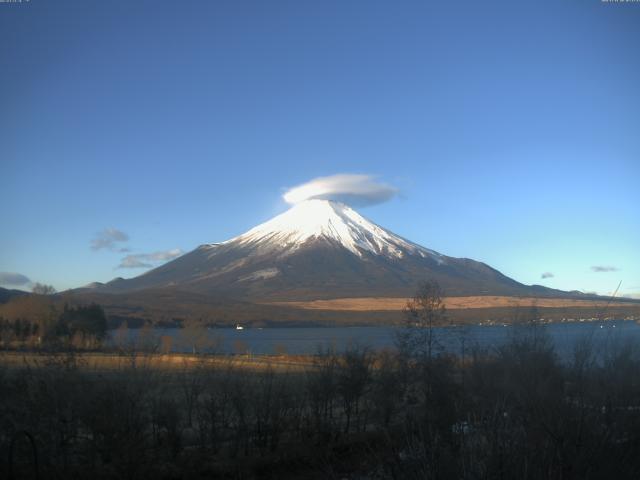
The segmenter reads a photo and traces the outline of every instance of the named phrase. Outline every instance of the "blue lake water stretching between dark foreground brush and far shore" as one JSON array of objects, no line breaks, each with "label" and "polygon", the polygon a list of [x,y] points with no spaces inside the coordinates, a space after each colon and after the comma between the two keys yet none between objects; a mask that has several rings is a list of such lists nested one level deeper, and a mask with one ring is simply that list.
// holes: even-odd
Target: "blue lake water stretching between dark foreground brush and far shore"
[{"label": "blue lake water stretching between dark foreground brush and far shore", "polygon": [[[630,320],[604,322],[567,322],[538,326],[553,341],[557,352],[569,358],[574,346],[590,341],[598,351],[620,348],[628,342],[640,345],[640,325]],[[236,354],[314,354],[319,349],[341,352],[350,345],[376,350],[393,348],[400,327],[323,327],[323,328],[212,328],[191,330],[177,328],[111,330],[108,343],[135,345],[162,351]],[[514,336],[531,331],[521,326],[466,326],[434,329],[442,348],[460,353],[464,344],[468,352],[474,346],[497,348]]]}]

